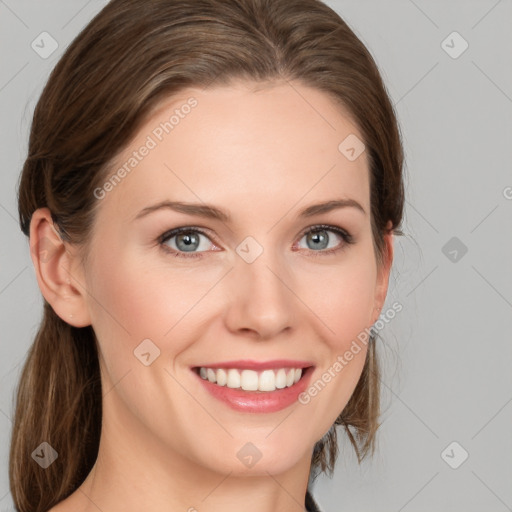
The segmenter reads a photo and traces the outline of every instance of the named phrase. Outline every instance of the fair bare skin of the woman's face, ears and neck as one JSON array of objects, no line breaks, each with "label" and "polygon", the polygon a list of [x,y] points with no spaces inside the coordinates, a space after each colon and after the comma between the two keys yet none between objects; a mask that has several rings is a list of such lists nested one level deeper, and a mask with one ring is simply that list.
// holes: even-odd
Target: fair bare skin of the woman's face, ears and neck
[{"label": "fair bare skin of the woman's face, ears and neck", "polygon": [[[60,240],[48,209],[34,213],[31,243],[46,237],[55,246],[48,261],[32,256],[39,286],[66,322],[92,324],[104,393],[98,460],[52,511],[304,506],[313,447],[354,391],[366,349],[308,404],[275,413],[230,409],[190,368],[300,359],[315,365],[315,382],[378,319],[393,238],[386,235],[378,266],[366,153],[349,161],[338,151],[349,134],[362,139],[350,118],[325,93],[299,83],[254,86],[189,89],[160,105],[116,165],[187,98],[198,101],[100,200],[86,262]],[[365,213],[347,207],[297,217],[306,206],[340,198],[356,200]],[[163,200],[213,204],[232,221],[172,210],[133,220]],[[327,231],[329,248],[341,249],[320,254],[327,249],[302,235],[317,224],[345,229],[354,243]],[[202,257],[174,257],[159,246],[160,235],[181,226],[209,233],[195,251]],[[252,263],[236,252],[247,236],[263,248]],[[177,250],[176,242],[167,246]],[[147,338],[160,350],[150,366],[133,353]],[[252,468],[236,456],[247,442],[262,454]]]}]

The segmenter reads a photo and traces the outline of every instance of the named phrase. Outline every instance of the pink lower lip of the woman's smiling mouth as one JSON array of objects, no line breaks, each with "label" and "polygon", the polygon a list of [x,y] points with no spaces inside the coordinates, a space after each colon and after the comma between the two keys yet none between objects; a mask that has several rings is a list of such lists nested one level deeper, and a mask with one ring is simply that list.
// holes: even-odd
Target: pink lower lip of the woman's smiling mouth
[{"label": "pink lower lip of the woman's smiling mouth", "polygon": [[306,389],[311,378],[313,367],[303,370],[301,379],[289,388],[275,391],[243,391],[241,388],[233,389],[219,386],[194,374],[201,381],[205,389],[221,402],[240,412],[277,412],[298,401],[298,396]]}]

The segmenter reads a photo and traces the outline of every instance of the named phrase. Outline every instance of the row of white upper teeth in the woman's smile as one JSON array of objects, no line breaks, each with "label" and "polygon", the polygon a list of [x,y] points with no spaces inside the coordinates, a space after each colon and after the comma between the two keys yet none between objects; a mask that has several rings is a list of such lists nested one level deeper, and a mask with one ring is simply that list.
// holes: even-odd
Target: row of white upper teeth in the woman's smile
[{"label": "row of white upper teeth in the woman's smile", "polygon": [[242,388],[244,391],[275,391],[293,386],[302,377],[302,368],[279,368],[277,370],[237,370],[235,368],[200,368],[202,379],[228,388]]}]

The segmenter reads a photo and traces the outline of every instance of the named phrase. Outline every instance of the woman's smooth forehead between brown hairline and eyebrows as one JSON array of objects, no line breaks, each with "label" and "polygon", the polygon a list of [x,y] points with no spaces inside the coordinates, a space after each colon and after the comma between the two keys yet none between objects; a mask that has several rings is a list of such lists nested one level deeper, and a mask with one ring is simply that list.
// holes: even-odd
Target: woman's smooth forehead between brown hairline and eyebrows
[{"label": "woman's smooth forehead between brown hairline and eyebrows", "polygon": [[346,140],[362,145],[346,112],[298,83],[186,89],[160,103],[118,155],[109,176],[122,179],[104,206],[131,215],[181,199],[254,211],[351,197],[367,209],[366,152],[347,158]]}]

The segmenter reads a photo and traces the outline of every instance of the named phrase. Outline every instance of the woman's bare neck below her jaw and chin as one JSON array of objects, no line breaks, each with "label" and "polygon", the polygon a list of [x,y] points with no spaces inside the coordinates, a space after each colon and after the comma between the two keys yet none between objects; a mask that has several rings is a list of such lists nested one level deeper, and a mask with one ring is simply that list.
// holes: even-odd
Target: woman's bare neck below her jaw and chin
[{"label": "woman's bare neck below her jaw and chin", "polygon": [[113,414],[112,403],[109,406],[107,411],[104,409],[107,414],[102,422],[96,463],[80,488],[68,498],[74,510],[305,510],[310,453],[278,474],[269,468],[249,474],[238,473],[238,468],[215,471],[190,460],[187,453],[171,451],[160,440],[150,437],[147,427],[134,421],[133,416],[123,417],[117,407]]}]

